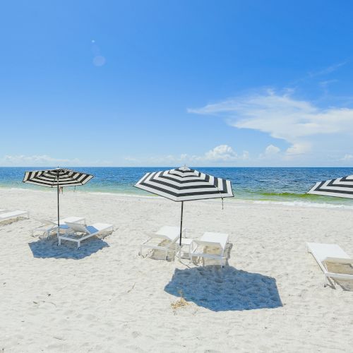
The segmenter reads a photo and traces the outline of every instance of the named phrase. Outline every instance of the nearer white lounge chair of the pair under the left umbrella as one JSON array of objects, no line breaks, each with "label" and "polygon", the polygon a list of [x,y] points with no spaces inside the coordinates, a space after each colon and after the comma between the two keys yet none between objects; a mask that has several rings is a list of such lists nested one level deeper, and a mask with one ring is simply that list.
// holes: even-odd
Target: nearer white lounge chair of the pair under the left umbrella
[{"label": "nearer white lounge chair of the pair under the left umbrella", "polygon": [[61,245],[61,240],[73,241],[77,243],[77,248],[80,248],[81,241],[94,237],[95,235],[105,232],[113,232],[113,225],[105,223],[95,223],[94,225],[80,225],[80,223],[66,222],[71,232],[67,234],[59,234],[58,245]]}]

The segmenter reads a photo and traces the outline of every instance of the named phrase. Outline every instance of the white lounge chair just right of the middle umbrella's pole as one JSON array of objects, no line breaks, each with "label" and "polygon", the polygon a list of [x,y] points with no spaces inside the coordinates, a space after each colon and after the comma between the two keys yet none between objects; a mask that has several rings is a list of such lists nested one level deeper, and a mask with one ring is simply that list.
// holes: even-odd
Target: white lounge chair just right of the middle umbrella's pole
[{"label": "white lounge chair just right of the middle umbrella's pole", "polygon": [[[200,239],[193,239],[190,249],[190,261],[198,257],[203,259],[205,265],[205,258],[214,258],[219,260],[222,267],[225,265],[225,248],[229,241],[229,235],[224,233],[205,232]],[[212,246],[219,249],[218,253],[205,253],[205,246]]]}]

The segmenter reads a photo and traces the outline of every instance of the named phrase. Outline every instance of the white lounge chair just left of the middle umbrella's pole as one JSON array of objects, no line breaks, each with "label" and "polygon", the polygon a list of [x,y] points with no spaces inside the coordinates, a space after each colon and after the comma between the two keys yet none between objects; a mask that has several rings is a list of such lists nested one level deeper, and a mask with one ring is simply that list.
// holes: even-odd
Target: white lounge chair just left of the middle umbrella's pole
[{"label": "white lounge chair just left of the middle umbrella's pole", "polygon": [[[186,229],[183,228],[182,232],[184,237],[186,234]],[[174,246],[179,240],[180,237],[180,228],[179,227],[170,227],[164,226],[158,230],[155,234],[148,234],[148,239],[140,244],[140,251],[138,255],[143,256],[142,249],[155,249],[162,250],[165,252],[165,259],[168,260],[168,252],[175,251]],[[165,244],[162,244],[165,242]]]}]

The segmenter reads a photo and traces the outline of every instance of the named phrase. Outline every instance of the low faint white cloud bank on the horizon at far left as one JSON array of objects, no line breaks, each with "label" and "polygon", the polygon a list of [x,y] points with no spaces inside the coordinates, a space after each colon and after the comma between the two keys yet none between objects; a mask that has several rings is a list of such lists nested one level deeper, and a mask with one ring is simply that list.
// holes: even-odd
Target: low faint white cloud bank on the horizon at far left
[{"label": "low faint white cloud bank on the horizon at far left", "polygon": [[0,161],[3,165],[8,166],[54,166],[54,165],[78,165],[80,160],[77,158],[73,160],[60,159],[49,157],[48,155],[5,155]]}]

